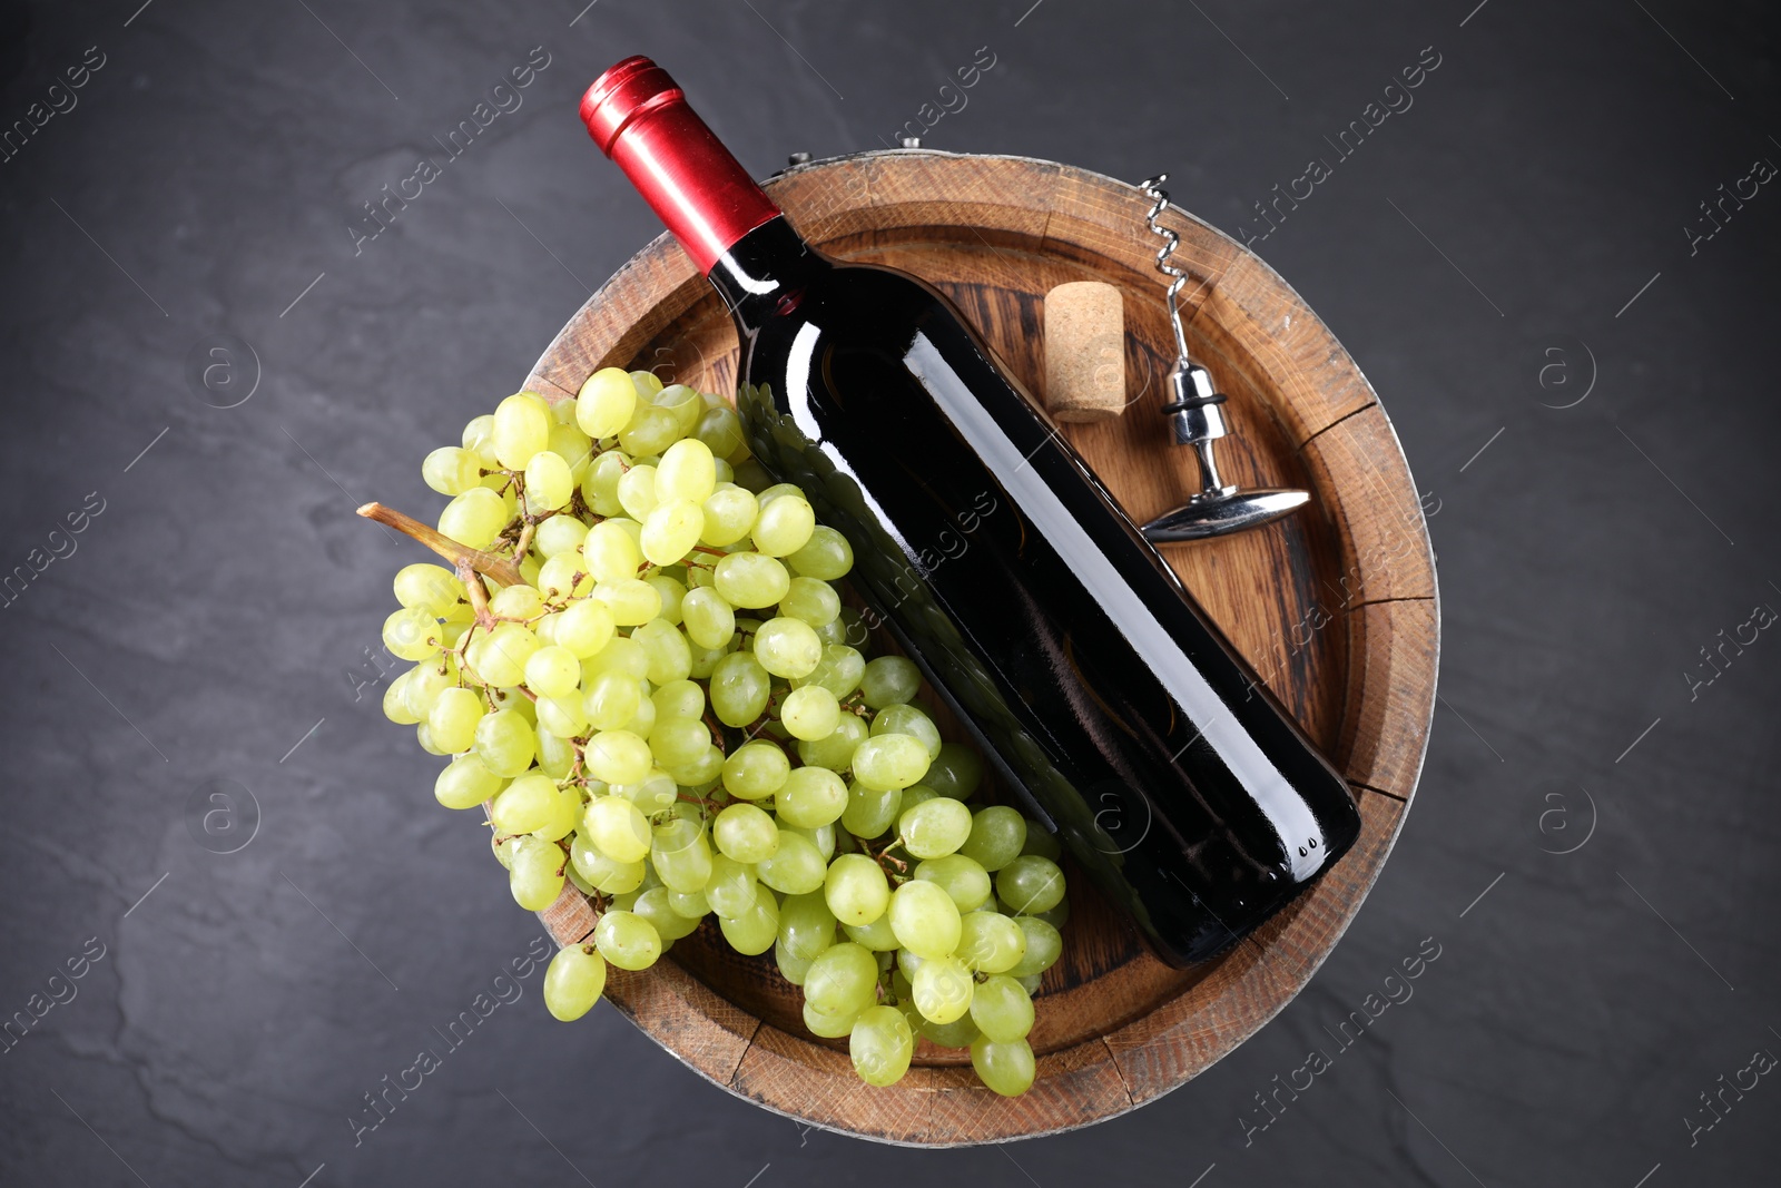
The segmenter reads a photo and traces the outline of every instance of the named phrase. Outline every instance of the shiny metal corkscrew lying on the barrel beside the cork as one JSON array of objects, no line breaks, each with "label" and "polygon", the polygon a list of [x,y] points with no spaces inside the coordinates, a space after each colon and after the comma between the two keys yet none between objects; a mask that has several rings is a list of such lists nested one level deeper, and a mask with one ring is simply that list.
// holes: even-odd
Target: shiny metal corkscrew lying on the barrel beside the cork
[{"label": "shiny metal corkscrew lying on the barrel beside the cork", "polygon": [[1309,492],[1291,488],[1240,490],[1218,476],[1213,442],[1229,433],[1220,410],[1225,395],[1213,388],[1211,372],[1188,356],[1188,335],[1181,328],[1181,305],[1177,301],[1183,285],[1188,283],[1188,273],[1170,264],[1170,256],[1181,244],[1181,235],[1156,221],[1168,207],[1168,191],[1161,189],[1167,180],[1168,175],[1159,173],[1140,185],[1145,198],[1154,203],[1145,223],[1154,235],[1165,240],[1156,251],[1156,271],[1168,278],[1163,301],[1168,306],[1168,324],[1175,331],[1175,363],[1168,370],[1170,399],[1163,404],[1163,415],[1168,417],[1174,429],[1174,443],[1193,447],[1200,468],[1200,490],[1183,506],[1143,525],[1143,536],[1152,545],[1241,533],[1272,524],[1311,499]]}]

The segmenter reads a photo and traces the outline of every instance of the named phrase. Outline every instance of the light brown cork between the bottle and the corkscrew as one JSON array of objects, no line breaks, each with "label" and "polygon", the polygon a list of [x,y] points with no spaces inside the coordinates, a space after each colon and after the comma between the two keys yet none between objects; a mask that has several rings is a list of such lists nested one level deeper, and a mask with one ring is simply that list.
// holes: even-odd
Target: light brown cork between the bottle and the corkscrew
[{"label": "light brown cork between the bottle and the corkscrew", "polygon": [[1113,285],[1070,281],[1045,294],[1045,410],[1076,422],[1126,411],[1126,317]]}]

